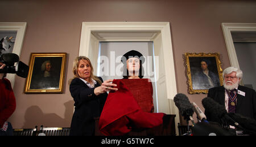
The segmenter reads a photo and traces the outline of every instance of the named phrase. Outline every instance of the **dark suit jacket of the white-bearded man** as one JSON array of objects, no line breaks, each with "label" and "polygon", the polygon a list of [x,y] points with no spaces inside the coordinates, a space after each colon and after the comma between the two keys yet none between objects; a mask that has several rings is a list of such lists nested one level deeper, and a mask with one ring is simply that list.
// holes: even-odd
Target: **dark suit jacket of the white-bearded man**
[{"label": "dark suit jacket of the white-bearded man", "polygon": [[[238,90],[245,92],[245,96],[237,94],[237,106],[236,113],[241,114],[247,118],[253,118],[256,120],[256,93],[254,89],[250,89],[243,86],[238,86]],[[209,89],[208,97],[213,98],[220,105],[225,106],[225,88],[214,87]],[[212,122],[220,122],[220,120],[213,115],[210,115],[209,111],[205,109],[205,115],[207,120]]]}]

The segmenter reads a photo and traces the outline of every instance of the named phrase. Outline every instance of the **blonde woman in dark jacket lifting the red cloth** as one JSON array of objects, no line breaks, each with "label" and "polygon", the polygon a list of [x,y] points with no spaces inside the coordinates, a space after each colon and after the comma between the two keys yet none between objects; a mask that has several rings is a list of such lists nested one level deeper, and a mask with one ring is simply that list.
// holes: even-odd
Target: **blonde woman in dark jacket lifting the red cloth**
[{"label": "blonde woman in dark jacket lifting the red cloth", "polygon": [[75,101],[75,112],[71,122],[70,135],[94,135],[94,118],[101,115],[101,111],[109,91],[117,91],[113,80],[103,82],[101,77],[93,75],[90,59],[77,57],[73,62],[73,74],[69,91]]}]

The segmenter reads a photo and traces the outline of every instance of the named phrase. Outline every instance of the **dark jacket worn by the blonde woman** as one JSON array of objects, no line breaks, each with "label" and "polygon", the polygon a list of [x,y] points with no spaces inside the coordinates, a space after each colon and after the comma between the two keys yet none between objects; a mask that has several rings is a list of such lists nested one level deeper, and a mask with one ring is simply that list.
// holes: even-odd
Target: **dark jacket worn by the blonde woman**
[{"label": "dark jacket worn by the blonde woman", "polygon": [[[98,77],[102,83],[101,77]],[[95,117],[101,115],[108,93],[96,96],[94,89],[99,87],[97,82],[94,88],[89,88],[79,78],[72,80],[69,91],[75,101],[75,112],[71,122],[71,136],[94,135]]]}]

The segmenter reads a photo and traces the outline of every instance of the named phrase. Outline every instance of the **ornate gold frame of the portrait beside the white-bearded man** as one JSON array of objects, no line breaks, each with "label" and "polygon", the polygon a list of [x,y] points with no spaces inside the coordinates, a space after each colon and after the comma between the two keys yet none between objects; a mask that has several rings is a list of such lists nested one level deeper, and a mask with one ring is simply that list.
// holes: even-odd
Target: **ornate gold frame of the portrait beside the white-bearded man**
[{"label": "ornate gold frame of the portrait beside the white-bearded man", "polygon": [[221,68],[221,62],[220,62],[220,55],[218,53],[214,53],[214,54],[205,54],[205,53],[185,53],[185,64],[187,66],[187,77],[188,77],[188,92],[189,94],[199,94],[199,93],[208,93],[208,89],[193,89],[192,87],[192,76],[191,76],[191,66],[190,66],[190,62],[189,62],[189,57],[199,57],[199,58],[203,58],[203,57],[215,57],[216,58],[216,66],[217,66],[217,70],[218,70],[218,77],[220,80],[220,85],[223,85],[223,77],[222,77],[222,68]]}]

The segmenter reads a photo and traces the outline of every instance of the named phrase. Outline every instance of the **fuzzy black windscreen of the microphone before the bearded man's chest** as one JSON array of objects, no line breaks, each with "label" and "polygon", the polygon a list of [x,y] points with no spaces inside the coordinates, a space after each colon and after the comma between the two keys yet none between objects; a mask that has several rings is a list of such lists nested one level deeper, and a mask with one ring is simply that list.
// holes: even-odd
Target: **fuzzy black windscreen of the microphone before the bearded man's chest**
[{"label": "fuzzy black windscreen of the microphone before the bearded man's chest", "polygon": [[206,97],[202,100],[202,104],[211,114],[222,118],[228,112],[225,107],[214,101],[212,98]]}]

